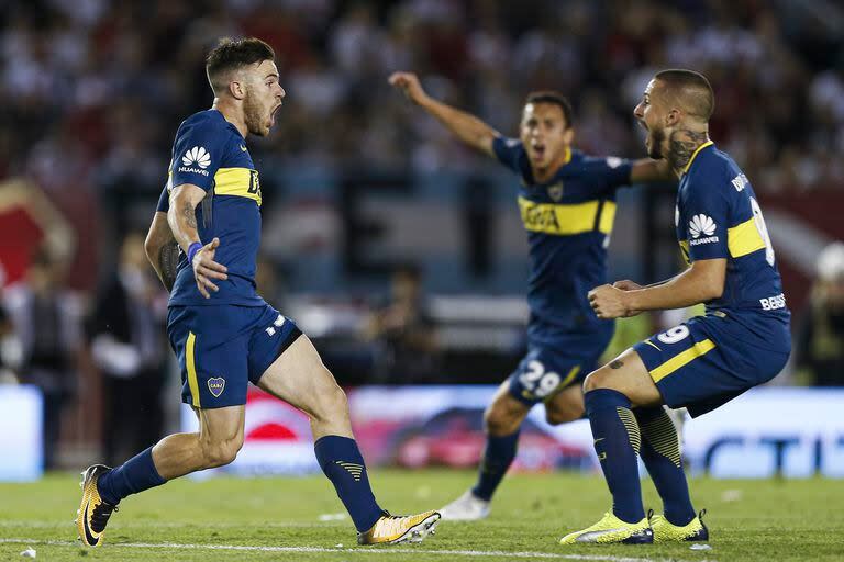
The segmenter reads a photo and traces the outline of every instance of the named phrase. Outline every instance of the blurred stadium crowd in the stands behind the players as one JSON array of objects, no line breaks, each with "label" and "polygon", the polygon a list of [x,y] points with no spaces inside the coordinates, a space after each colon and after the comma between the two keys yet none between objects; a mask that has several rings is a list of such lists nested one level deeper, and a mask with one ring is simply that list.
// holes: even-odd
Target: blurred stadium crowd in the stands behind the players
[{"label": "blurred stadium crowd in the stands behind the players", "polygon": [[502,132],[515,131],[526,92],[559,89],[574,101],[585,149],[638,155],[631,109],[655,68],[679,66],[713,81],[713,136],[757,190],[840,187],[844,47],[835,29],[844,10],[830,4],[11,2],[0,14],[0,177],[157,191],[176,125],[210,104],[203,53],[219,36],[256,35],[275,47],[288,98],[255,153],[282,162],[470,166],[392,94],[386,77],[396,69],[418,71],[440,98]]}]

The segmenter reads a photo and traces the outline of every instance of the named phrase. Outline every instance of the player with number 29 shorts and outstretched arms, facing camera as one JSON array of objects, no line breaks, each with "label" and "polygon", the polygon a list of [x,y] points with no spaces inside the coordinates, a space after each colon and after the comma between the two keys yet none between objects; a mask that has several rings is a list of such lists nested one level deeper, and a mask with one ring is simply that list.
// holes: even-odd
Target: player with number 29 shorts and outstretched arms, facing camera
[{"label": "player with number 29 shorts and outstretched arms, facing camera", "polygon": [[528,355],[498,389],[484,420],[487,445],[475,486],[441,509],[452,520],[487,517],[492,494],[515,458],[519,428],[545,405],[549,424],[584,414],[580,383],[612,338],[614,324],[598,318],[587,291],[606,282],[607,245],[615,190],[669,179],[666,162],[596,158],[571,148],[571,106],[559,93],[531,93],[519,138],[429,97],[411,72],[389,81],[457,138],[519,176],[519,209],[530,245]]}]

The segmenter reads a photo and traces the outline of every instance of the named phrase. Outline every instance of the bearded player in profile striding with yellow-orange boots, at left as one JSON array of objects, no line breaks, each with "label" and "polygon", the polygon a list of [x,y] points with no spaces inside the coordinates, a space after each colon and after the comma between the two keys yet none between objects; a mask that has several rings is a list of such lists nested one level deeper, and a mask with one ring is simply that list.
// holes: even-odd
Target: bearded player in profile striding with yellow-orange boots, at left
[{"label": "bearded player in profile striding with yellow-orange boots, at left", "polygon": [[[306,412],[314,450],[358,531],[360,544],[419,541],[436,512],[395,517],[379,507],[352,435],[346,396],[307,336],[255,292],[260,183],[245,140],[266,136],[285,91],[273,49],[223,40],[206,70],[214,103],[181,123],[167,191],[147,255],[170,289],[167,333],[181,368],[182,402],[199,432],[165,437],[114,469],[82,473],[79,536],[89,547],[121,499],[178,476],[232,462],[243,445],[246,386],[256,384]],[[181,248],[174,268],[175,245]]]}]

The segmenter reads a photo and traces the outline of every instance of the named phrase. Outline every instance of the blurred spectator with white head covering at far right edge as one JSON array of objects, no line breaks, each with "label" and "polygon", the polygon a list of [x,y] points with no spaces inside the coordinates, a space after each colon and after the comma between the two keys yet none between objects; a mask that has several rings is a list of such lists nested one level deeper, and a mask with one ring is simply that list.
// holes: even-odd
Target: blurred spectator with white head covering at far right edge
[{"label": "blurred spectator with white head covering at far right edge", "polygon": [[797,338],[797,360],[815,386],[844,386],[844,243],[818,257],[818,279]]}]

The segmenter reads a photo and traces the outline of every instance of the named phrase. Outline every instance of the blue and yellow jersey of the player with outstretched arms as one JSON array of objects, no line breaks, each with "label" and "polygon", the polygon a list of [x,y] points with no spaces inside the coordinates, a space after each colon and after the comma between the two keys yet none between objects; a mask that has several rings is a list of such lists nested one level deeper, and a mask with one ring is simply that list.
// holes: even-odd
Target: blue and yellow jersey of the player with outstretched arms
[{"label": "blue and yellow jersey of the player with outstretched arms", "polygon": [[498,137],[492,148],[522,180],[518,201],[530,246],[530,339],[588,345],[596,330],[611,333],[612,322],[598,319],[587,293],[607,282],[615,190],[630,183],[632,164],[571,150],[553,179],[537,183],[521,140]]}]

